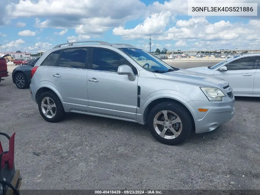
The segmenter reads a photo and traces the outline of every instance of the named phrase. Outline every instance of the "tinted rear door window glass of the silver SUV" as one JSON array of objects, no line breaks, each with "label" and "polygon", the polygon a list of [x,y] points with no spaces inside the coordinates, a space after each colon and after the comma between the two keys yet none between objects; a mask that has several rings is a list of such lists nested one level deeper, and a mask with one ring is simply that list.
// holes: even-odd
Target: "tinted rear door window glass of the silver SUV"
[{"label": "tinted rear door window glass of the silver SUV", "polygon": [[87,48],[73,48],[62,51],[59,59],[59,67],[86,68],[85,61]]}]

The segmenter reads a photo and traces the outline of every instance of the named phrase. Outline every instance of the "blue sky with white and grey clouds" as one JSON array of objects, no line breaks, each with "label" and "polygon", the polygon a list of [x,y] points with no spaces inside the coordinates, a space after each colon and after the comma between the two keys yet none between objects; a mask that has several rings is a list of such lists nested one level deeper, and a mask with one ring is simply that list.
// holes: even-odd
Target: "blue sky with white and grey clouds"
[{"label": "blue sky with white and grey clouds", "polygon": [[[211,1],[258,3],[258,16],[188,16],[188,2]],[[67,40],[100,40],[149,51],[151,34],[151,51],[259,49],[259,8],[260,0],[5,0],[0,45],[33,54]]]}]

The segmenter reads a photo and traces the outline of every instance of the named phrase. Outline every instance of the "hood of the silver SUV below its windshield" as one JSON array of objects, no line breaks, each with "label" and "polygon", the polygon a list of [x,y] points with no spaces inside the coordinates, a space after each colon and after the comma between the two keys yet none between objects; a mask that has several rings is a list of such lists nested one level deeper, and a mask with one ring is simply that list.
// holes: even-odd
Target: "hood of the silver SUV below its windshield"
[{"label": "hood of the silver SUV below its windshield", "polygon": [[[206,67],[206,69],[208,69]],[[209,70],[209,69],[208,69]],[[221,85],[222,87],[228,85],[224,79],[194,72],[190,70],[180,69],[178,71],[166,72],[166,73],[154,73],[156,77],[160,79],[172,80],[177,82],[191,83],[196,85],[206,86],[207,84]],[[201,86],[201,87],[202,87]],[[209,86],[210,87],[210,86]]]}]

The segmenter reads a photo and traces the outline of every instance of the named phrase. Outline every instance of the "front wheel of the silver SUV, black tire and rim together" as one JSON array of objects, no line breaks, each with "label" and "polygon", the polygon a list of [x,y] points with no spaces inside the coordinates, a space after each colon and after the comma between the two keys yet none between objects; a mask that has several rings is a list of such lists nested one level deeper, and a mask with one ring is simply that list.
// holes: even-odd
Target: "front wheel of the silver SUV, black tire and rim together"
[{"label": "front wheel of the silver SUV, black tire and rim together", "polygon": [[189,137],[193,119],[186,107],[174,102],[163,102],[151,109],[147,124],[156,140],[167,145],[177,145]]}]

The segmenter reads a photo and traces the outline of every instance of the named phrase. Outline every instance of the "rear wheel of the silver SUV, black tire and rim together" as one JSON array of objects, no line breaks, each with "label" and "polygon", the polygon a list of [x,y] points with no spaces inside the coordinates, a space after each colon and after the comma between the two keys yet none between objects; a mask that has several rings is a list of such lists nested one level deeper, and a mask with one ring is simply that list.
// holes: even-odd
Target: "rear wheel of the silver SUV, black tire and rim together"
[{"label": "rear wheel of the silver SUV, black tire and rim together", "polygon": [[51,123],[62,120],[65,115],[60,99],[52,91],[46,91],[40,95],[38,108],[42,117]]}]

